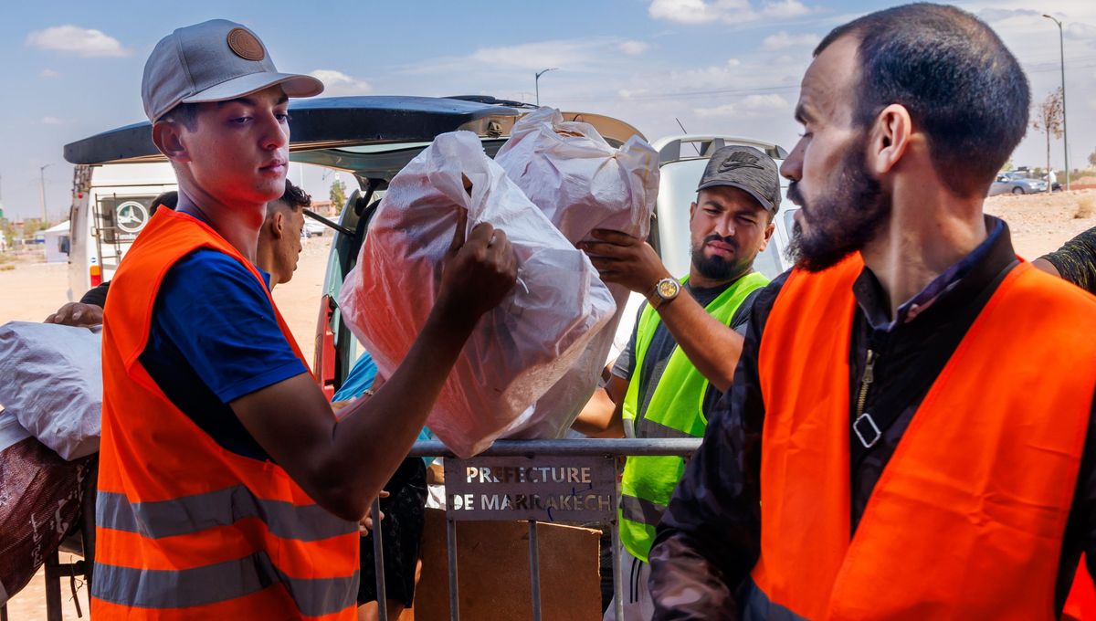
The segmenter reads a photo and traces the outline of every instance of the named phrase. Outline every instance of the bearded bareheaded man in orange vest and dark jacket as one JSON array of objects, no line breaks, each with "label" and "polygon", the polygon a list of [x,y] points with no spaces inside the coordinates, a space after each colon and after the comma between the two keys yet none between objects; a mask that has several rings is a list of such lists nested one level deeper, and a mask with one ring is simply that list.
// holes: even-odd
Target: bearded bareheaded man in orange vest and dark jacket
[{"label": "bearded bareheaded man in orange vest and dark jacket", "polygon": [[1096,298],[983,212],[1029,108],[955,7],[815,48],[780,170],[796,267],[663,514],[655,619],[1061,614],[1096,551]]}]

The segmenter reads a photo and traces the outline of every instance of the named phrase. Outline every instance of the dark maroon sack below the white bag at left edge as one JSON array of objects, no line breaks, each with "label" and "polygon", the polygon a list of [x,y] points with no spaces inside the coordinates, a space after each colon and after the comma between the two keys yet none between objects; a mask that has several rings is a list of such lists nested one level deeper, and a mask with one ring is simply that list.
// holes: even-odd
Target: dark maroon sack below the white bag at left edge
[{"label": "dark maroon sack below the white bag at left edge", "polygon": [[[0,411],[0,424],[12,416]],[[0,449],[0,606],[31,582],[80,516],[94,459],[65,461],[30,437]]]}]

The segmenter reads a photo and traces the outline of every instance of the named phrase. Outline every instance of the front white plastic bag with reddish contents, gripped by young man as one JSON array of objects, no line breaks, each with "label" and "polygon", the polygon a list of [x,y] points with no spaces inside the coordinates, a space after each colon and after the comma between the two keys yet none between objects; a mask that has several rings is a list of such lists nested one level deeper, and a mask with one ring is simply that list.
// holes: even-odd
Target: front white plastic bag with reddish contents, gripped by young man
[{"label": "front white plastic bag with reddish contents, gripped by young man", "polygon": [[616,307],[589,257],[506,179],[479,138],[444,134],[392,179],[340,295],[343,318],[383,375],[399,366],[437,298],[458,209],[468,210],[466,234],[480,222],[502,228],[518,262],[517,285],[480,320],[427,422],[468,457],[532,414]]}]

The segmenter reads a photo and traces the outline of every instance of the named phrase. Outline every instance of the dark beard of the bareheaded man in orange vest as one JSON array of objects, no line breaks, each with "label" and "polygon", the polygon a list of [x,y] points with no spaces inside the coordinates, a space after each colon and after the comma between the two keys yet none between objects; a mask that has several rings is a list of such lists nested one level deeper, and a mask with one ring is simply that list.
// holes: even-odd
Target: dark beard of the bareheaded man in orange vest
[{"label": "dark beard of the bareheaded man in orange vest", "polygon": [[863,249],[891,214],[891,197],[868,173],[863,141],[854,141],[845,153],[837,183],[827,194],[808,203],[794,182],[788,198],[804,208],[800,218],[810,214],[810,232],[797,220],[788,244],[789,258],[808,272],[832,267]]}]

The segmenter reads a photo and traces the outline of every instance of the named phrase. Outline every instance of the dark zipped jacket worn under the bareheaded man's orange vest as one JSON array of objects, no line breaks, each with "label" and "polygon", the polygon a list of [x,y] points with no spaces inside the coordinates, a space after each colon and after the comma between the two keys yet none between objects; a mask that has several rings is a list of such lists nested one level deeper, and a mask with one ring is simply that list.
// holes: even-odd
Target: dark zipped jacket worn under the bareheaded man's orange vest
[{"label": "dark zipped jacket worn under the bareheaded man's orange vest", "polygon": [[[998,276],[1016,264],[1007,227],[1001,223],[997,229],[997,222],[1000,220],[987,218],[987,228],[996,229],[996,234],[957,264],[958,269],[950,278],[934,283],[938,290],[933,291],[921,308],[903,304],[893,325],[888,325],[889,303],[882,288],[865,268],[854,285],[857,312],[849,360],[853,409],[869,347],[878,355],[878,361],[867,409],[878,402],[881,394],[893,391],[906,380],[903,371],[918,364],[924,343],[931,335],[952,322],[962,322],[969,327],[974,321],[984,306],[981,300],[986,289],[995,287]],[[758,479],[765,405],[757,353],[765,322],[786,280],[787,275],[774,280],[754,302],[734,383],[709,416],[704,445],[689,461],[663,514],[650,555],[655,619],[738,619],[741,616],[735,589],[753,570],[761,547]],[[850,464],[854,532],[883,467],[927,390],[928,386],[911,399],[893,425],[884,430],[882,439]],[[850,436],[854,414],[849,412]],[[1096,416],[1089,421],[1088,441],[1065,529],[1057,585],[1059,611],[1082,551],[1087,552],[1089,571],[1096,575],[1093,422]],[[858,440],[852,436],[850,442]]]}]

